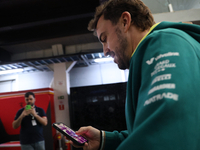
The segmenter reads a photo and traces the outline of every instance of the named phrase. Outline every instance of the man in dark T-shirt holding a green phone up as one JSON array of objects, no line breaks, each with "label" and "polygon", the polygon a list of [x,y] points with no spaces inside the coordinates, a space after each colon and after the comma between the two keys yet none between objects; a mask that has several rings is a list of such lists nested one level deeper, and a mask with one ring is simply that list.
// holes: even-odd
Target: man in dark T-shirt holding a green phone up
[{"label": "man in dark T-shirt holding a green phone up", "polygon": [[47,125],[47,117],[44,110],[35,106],[33,92],[25,94],[26,106],[18,110],[13,121],[13,128],[20,129],[20,144],[22,150],[45,150],[43,126]]}]

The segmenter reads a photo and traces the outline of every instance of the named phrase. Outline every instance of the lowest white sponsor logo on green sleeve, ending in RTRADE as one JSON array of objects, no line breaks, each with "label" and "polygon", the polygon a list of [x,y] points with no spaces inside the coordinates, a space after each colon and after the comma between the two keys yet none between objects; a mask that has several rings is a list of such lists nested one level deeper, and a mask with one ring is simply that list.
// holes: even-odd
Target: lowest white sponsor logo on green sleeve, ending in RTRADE
[{"label": "lowest white sponsor logo on green sleeve, ending in RTRADE", "polygon": [[153,97],[151,97],[150,99],[146,100],[144,102],[144,106],[146,105],[149,105],[151,103],[154,103],[156,101],[159,101],[159,100],[162,100],[164,98],[167,98],[167,99],[172,99],[174,101],[178,101],[178,94],[175,94],[175,93],[171,93],[171,92],[167,92],[167,93],[162,93],[162,94],[157,94]]}]

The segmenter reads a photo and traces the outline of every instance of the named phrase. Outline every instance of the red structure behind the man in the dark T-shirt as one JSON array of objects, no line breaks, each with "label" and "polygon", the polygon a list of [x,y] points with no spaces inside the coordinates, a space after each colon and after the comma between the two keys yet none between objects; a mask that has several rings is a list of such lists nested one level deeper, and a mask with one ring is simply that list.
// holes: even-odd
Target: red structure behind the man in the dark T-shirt
[{"label": "red structure behind the man in the dark T-shirt", "polygon": [[44,127],[44,138],[46,149],[53,150],[53,137],[56,135],[56,131],[52,127],[52,123],[55,122],[54,90],[52,88],[0,93],[0,150],[21,149],[19,144],[20,127],[13,129],[12,122],[17,111],[26,105],[24,94],[28,91],[34,92],[35,105],[43,108],[47,114],[48,125]]}]

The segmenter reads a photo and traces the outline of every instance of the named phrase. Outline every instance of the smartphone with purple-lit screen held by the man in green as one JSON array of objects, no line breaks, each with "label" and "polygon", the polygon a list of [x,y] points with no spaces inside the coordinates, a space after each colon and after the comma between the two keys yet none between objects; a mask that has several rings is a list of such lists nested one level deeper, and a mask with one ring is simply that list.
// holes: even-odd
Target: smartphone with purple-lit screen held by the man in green
[{"label": "smartphone with purple-lit screen held by the man in green", "polygon": [[81,135],[77,135],[75,131],[70,129],[67,125],[62,122],[53,123],[52,126],[61,132],[64,136],[70,139],[75,145],[83,146],[87,140]]}]

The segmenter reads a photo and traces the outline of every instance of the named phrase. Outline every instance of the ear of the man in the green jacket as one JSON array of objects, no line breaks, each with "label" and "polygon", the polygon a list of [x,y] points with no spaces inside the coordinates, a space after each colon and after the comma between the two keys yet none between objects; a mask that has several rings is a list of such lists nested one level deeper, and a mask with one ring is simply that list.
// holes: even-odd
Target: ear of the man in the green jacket
[{"label": "ear of the man in the green jacket", "polygon": [[127,11],[123,12],[121,15],[121,21],[124,32],[127,32],[131,26],[131,14]]}]

